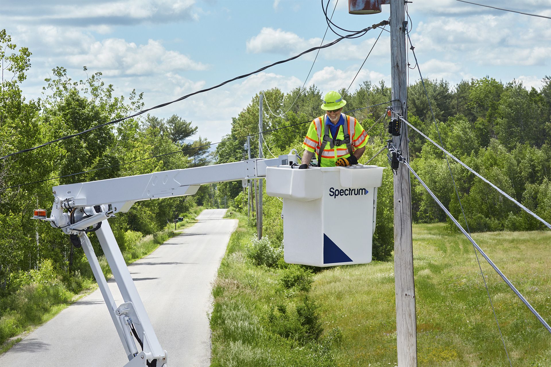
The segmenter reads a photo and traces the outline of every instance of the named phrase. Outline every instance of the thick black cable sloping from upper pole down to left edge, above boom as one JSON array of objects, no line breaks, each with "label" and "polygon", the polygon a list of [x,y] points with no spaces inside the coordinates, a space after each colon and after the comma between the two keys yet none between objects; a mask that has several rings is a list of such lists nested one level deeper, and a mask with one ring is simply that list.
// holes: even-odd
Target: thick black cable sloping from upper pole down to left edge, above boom
[{"label": "thick black cable sloping from upper pole down to left edge, above boom", "polygon": [[262,67],[258,70],[256,70],[255,72],[251,72],[251,73],[247,73],[247,74],[243,74],[243,75],[239,75],[239,76],[236,76],[235,78],[232,78],[232,79],[229,79],[229,80],[226,80],[226,81],[223,81],[222,83],[218,84],[218,85],[215,85],[215,86],[212,86],[212,87],[209,87],[207,89],[202,89],[202,90],[198,90],[198,91],[195,91],[193,93],[190,93],[190,94],[187,94],[185,96],[182,96],[180,98],[177,98],[176,100],[174,101],[170,101],[170,102],[165,102],[165,103],[161,103],[160,105],[157,105],[157,106],[154,106],[154,107],[151,107],[151,108],[147,108],[147,109],[143,109],[142,111],[139,111],[139,112],[136,112],[134,114],[131,114],[129,116],[126,116],[126,117],[122,117],[122,118],[119,118],[119,119],[116,119],[116,120],[112,120],[110,122],[106,122],[104,124],[100,124],[98,126],[95,126],[93,128],[90,128],[88,130],[84,130],[83,132],[79,132],[79,133],[76,133],[76,134],[72,134],[72,135],[67,135],[67,136],[63,136],[62,138],[58,138],[56,140],[52,140],[52,141],[48,141],[48,143],[44,143],[44,144],[41,144],[41,145],[38,145],[38,146],[35,146],[35,147],[32,147],[32,148],[28,148],[28,149],[24,149],[24,150],[20,150],[18,152],[14,152],[14,153],[11,153],[11,154],[8,154],[6,156],[3,156],[3,157],[0,157],[0,160],[3,160],[7,157],[11,157],[11,156],[14,156],[16,154],[20,154],[20,153],[24,153],[24,152],[28,152],[28,151],[31,151],[31,150],[35,150],[35,149],[38,149],[40,147],[43,147],[43,146],[46,146],[46,145],[49,145],[49,144],[52,144],[52,143],[55,143],[56,141],[61,141],[61,140],[65,140],[65,139],[69,139],[69,138],[73,138],[74,136],[78,136],[80,134],[84,134],[84,133],[88,133],[90,132],[91,130],[95,130],[95,129],[98,129],[98,128],[101,128],[101,127],[104,127],[106,125],[110,125],[110,124],[114,124],[114,123],[117,123],[117,122],[121,122],[123,120],[126,120],[126,119],[129,119],[129,118],[132,118],[132,117],[136,117],[136,116],[139,116],[145,112],[148,112],[148,111],[152,111],[153,109],[156,109],[156,108],[160,108],[160,107],[165,107],[165,106],[168,106],[168,105],[171,105],[172,103],[175,103],[175,102],[179,102],[179,101],[182,101],[182,100],[185,100],[186,98],[188,97],[191,97],[191,96],[194,96],[196,94],[199,94],[199,93],[203,93],[203,92],[207,92],[209,90],[213,90],[213,89],[216,89],[218,87],[221,87],[225,84],[228,84],[230,83],[231,81],[235,81],[235,80],[238,80],[238,79],[243,79],[243,78],[246,78],[247,76],[250,76],[252,74],[256,74],[256,73],[260,73],[262,72],[263,70],[266,70],[268,68],[271,68],[275,65],[279,65],[279,64],[283,64],[283,63],[286,63],[286,62],[289,62],[289,61],[292,61],[296,58],[299,58],[300,56],[306,54],[306,53],[309,53],[309,52],[312,52],[312,51],[315,51],[315,50],[320,50],[321,48],[327,48],[327,47],[330,47],[330,46],[333,46],[335,45],[337,42],[340,42],[342,40],[344,40],[345,38],[354,38],[353,36],[355,35],[358,35],[360,34],[361,32],[363,32],[364,34],[369,31],[371,29],[371,27],[368,27],[368,28],[365,28],[361,31],[358,31],[358,32],[355,32],[354,34],[352,35],[347,35],[347,36],[343,36],[341,38],[338,38],[332,42],[329,42],[327,43],[326,45],[323,45],[323,46],[317,46],[317,47],[312,47],[310,48],[309,50],[306,50],[306,51],[303,51],[301,53],[299,53],[298,55],[296,56],[293,56],[293,57],[290,57],[288,59],[285,59],[285,60],[282,60],[282,61],[277,61],[277,62],[274,62],[272,64],[269,64],[265,67]]}]

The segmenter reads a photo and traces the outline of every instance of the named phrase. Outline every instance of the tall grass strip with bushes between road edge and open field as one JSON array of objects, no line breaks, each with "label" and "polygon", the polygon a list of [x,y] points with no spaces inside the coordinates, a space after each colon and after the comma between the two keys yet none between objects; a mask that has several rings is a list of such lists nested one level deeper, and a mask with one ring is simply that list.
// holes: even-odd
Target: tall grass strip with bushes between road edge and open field
[{"label": "tall grass strip with bushes between road edge and open field", "polygon": [[234,215],[239,226],[213,288],[211,366],[334,366],[339,330],[323,333],[307,295],[311,271],[278,261],[279,244],[257,240],[247,218]]}]

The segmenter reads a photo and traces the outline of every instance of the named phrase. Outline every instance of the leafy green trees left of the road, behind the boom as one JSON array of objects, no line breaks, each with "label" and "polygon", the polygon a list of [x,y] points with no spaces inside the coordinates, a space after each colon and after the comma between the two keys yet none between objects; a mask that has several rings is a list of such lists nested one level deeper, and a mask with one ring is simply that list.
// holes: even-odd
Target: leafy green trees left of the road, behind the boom
[{"label": "leafy green trees left of the road, behind the boom", "polygon": [[[0,156],[143,108],[143,94],[133,90],[127,96],[117,96],[114,86],[102,81],[101,73],[88,74],[86,67],[87,78],[78,81],[63,67],[56,67],[51,78],[45,79],[42,96],[27,100],[20,85],[31,66],[30,57],[28,48],[18,48],[6,30],[0,31]],[[1,160],[0,296],[17,291],[20,280],[46,260],[66,282],[78,275],[79,264],[88,266],[83,251],[75,250],[67,235],[48,223],[31,220],[37,208],[46,209],[49,215],[53,186],[205,165],[210,160],[206,146],[210,143],[196,137],[196,132],[192,122],[179,116],[161,119],[148,115]],[[154,156],[159,157],[148,159]],[[125,234],[160,231],[192,207],[212,205],[213,198],[212,187],[206,185],[192,197],[137,202],[131,211],[112,219],[111,226],[121,249],[125,249],[129,238]],[[91,240],[101,256],[93,234]],[[0,302],[0,317],[2,311]]]}]

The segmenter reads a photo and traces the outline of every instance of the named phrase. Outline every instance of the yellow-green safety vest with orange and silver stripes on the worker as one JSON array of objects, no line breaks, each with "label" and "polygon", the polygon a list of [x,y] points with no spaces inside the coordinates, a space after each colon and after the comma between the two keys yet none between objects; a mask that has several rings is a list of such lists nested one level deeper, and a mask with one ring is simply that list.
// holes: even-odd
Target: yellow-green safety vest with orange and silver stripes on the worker
[{"label": "yellow-green safety vest with orange and silver stripes on the worker", "polygon": [[[358,120],[352,116],[344,115],[345,123],[339,126],[337,136],[333,139],[330,132],[325,132],[326,116],[325,114],[312,121],[302,147],[315,152],[318,166],[334,167],[338,158],[349,157],[354,150],[365,146],[369,136]],[[324,141],[325,144],[323,144]]]}]

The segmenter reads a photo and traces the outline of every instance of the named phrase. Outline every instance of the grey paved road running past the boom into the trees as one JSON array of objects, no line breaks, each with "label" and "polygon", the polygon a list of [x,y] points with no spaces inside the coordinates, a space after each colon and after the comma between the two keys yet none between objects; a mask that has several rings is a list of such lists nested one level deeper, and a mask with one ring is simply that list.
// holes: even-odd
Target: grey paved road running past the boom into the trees
[{"label": "grey paved road running past the boom into the trees", "polygon": [[[169,366],[208,366],[210,290],[236,220],[205,210],[129,270]],[[122,298],[109,282],[117,304]],[[139,349],[139,346],[138,346]],[[61,311],[0,357],[0,366],[123,366],[125,351],[99,290]]]}]

